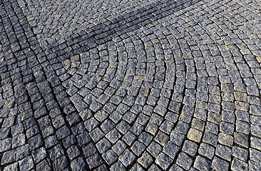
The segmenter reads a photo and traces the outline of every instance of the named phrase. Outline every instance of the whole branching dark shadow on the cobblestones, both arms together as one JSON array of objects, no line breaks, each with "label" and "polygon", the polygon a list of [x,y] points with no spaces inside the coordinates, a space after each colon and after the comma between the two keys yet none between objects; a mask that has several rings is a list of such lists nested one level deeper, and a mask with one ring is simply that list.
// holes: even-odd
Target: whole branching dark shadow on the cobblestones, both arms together
[{"label": "whole branching dark shadow on the cobblestones, both arms together", "polygon": [[[1,1],[0,42],[3,48],[0,55],[1,58],[5,58],[5,61],[1,62],[0,68],[1,84],[2,86],[10,84],[14,89],[16,104],[14,103],[13,107],[19,109],[21,123],[26,125],[28,120],[31,120],[41,131],[50,127],[53,128],[49,118],[53,117],[50,113],[52,113],[54,108],[61,114],[61,118],[66,120],[66,123],[62,127],[63,130],[57,127],[57,129],[53,128],[53,130],[50,130],[50,133],[39,133],[34,136],[34,139],[28,138],[29,140],[26,140],[26,143],[30,143],[33,140],[37,140],[39,143],[33,143],[29,147],[30,152],[4,161],[2,160],[0,168],[21,160],[22,157],[26,157],[26,155],[31,154],[34,150],[44,147],[44,139],[48,136],[46,134],[56,134],[58,144],[61,145],[63,143],[63,136],[58,134],[61,131],[66,133],[66,136],[71,136],[75,139],[73,143],[80,149],[81,154],[79,156],[84,158],[83,145],[87,143],[95,144],[95,142],[91,140],[86,131],[83,131],[83,120],[79,117],[78,111],[74,108],[65,88],[61,86],[61,81],[51,66],[54,63],[61,63],[66,58],[71,58],[93,47],[111,41],[113,37],[135,31],[146,24],[163,19],[165,16],[169,16],[175,11],[184,9],[186,6],[195,4],[198,1],[200,0],[171,0],[163,3],[158,2],[153,4],[153,6],[143,6],[140,9],[131,11],[128,15],[118,16],[112,21],[108,20],[105,23],[89,28],[86,32],[82,32],[71,38],[65,38],[67,47],[61,48],[58,43],[55,43],[54,46],[46,49],[41,48],[39,45],[36,38],[37,35],[29,26],[29,22],[26,21],[26,16],[24,16],[17,2],[14,0]],[[106,15],[103,17],[106,18]],[[73,48],[73,52],[66,51],[68,47],[76,48]],[[11,77],[12,79],[5,79],[7,77]],[[27,87],[29,85],[34,86],[34,95],[32,95],[30,87]],[[37,97],[36,94],[38,95]],[[39,101],[41,101],[41,104],[36,105]],[[71,123],[67,119],[71,115],[79,119]],[[39,124],[43,119],[46,122],[44,127]],[[86,140],[86,143],[82,142],[82,140]],[[66,153],[64,145],[61,145],[61,150]],[[12,152],[15,155],[16,150],[14,149]],[[4,157],[10,155],[10,153],[0,155]],[[60,158],[63,160],[63,165],[59,165],[60,163],[56,162],[59,158],[53,159],[51,167],[67,167],[68,162],[70,162],[68,156]],[[97,155],[96,159],[98,162],[102,162],[101,156]],[[89,169],[88,163],[86,161],[83,163],[84,167]]]}]

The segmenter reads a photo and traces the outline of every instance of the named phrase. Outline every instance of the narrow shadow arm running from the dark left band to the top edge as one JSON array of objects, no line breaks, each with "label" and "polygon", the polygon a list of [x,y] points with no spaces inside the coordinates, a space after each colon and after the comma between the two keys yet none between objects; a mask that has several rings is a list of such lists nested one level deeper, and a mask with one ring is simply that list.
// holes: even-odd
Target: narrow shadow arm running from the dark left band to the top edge
[{"label": "narrow shadow arm running from the dark left band to the top edge", "polygon": [[[146,24],[151,24],[153,21],[163,19],[165,16],[169,16],[175,11],[191,6],[198,1],[200,0],[158,1],[158,3],[153,4],[153,6],[140,6],[140,9],[131,11],[128,15],[118,16],[116,19],[93,26],[93,28],[89,28],[88,32],[74,39],[83,38],[83,41],[88,41],[87,46],[93,48],[107,41],[111,41],[113,37],[121,36]],[[106,19],[106,16],[110,15],[111,14],[105,14],[103,17]]]}]

